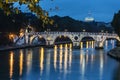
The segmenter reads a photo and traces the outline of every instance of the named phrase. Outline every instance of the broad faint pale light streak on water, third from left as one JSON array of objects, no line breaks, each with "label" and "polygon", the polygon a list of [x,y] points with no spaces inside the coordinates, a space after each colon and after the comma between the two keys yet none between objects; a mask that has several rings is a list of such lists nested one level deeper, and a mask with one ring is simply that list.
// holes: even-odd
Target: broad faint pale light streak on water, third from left
[{"label": "broad faint pale light streak on water, third from left", "polygon": [[31,70],[31,67],[32,67],[32,50],[27,50],[26,51],[27,53],[27,74],[29,74],[30,70]]}]

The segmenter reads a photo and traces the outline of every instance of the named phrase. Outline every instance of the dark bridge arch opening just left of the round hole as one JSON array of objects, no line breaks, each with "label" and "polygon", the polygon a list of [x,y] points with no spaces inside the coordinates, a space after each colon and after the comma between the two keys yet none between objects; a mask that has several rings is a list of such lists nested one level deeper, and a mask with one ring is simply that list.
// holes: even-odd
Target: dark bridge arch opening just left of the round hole
[{"label": "dark bridge arch opening just left of the round hole", "polygon": [[67,35],[58,35],[54,39],[54,44],[59,44],[59,43],[73,43],[73,40],[70,36]]}]

